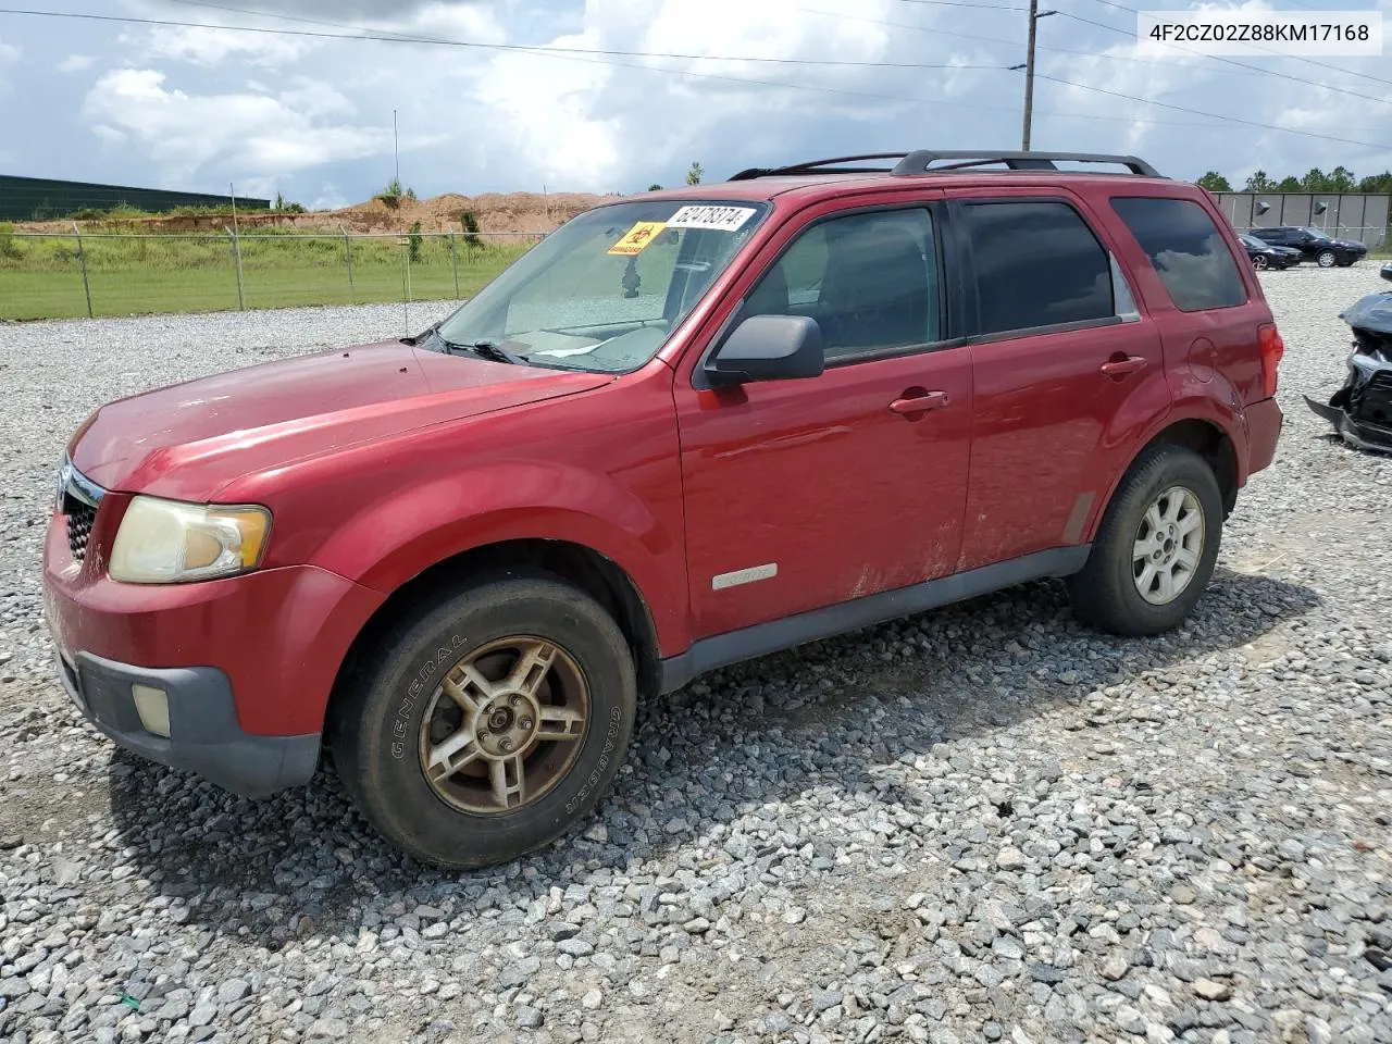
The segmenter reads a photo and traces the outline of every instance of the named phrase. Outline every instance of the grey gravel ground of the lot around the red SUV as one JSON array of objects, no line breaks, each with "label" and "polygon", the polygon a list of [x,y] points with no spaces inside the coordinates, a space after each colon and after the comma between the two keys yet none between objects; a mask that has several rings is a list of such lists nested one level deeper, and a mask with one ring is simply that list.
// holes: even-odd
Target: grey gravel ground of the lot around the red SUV
[{"label": "grey gravel ground of the lot around the red SUV", "polygon": [[1392,1040],[1392,461],[1299,400],[1386,284],[1264,283],[1288,427],[1190,626],[1037,583],[710,675],[583,837],[462,876],[327,773],[252,803],[116,753],[40,624],[89,409],[401,309],[0,326],[0,1038]]}]

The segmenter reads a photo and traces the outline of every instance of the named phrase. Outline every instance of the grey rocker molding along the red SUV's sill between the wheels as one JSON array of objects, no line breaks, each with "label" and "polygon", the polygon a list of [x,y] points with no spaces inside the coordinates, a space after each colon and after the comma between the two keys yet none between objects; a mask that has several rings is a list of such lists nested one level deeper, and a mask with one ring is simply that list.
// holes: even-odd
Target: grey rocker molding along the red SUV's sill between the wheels
[{"label": "grey rocker molding along the red SUV's sill between the wheels", "polygon": [[660,661],[661,692],[675,692],[689,681],[717,667],[728,667],[768,653],[817,642],[832,635],[909,617],[954,601],[990,594],[1018,583],[1045,576],[1069,576],[1087,562],[1091,544],[1055,547],[980,569],[942,576],[912,587],[870,594],[839,606],[799,612],[768,624],[703,638],[681,656]]}]

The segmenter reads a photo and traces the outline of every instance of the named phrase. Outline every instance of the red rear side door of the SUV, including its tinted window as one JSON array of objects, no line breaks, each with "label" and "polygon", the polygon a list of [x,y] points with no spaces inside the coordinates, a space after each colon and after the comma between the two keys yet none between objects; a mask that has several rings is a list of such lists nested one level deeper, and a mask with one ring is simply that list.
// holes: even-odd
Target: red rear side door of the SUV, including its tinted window
[{"label": "red rear side door of the SUV, including its tinted window", "polygon": [[1083,200],[983,189],[949,206],[969,296],[972,569],[1080,543],[1169,391],[1155,326]]}]

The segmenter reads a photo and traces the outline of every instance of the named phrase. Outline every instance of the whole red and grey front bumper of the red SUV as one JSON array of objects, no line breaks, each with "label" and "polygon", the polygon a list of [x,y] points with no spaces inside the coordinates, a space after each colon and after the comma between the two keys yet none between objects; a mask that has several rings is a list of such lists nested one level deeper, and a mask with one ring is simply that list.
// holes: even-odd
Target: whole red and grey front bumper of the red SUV
[{"label": "whole red and grey front bumper of the red SUV", "polygon": [[[352,642],[384,596],[312,565],[198,583],[117,583],[106,557],[128,497],[106,494],[70,532],[60,501],[43,547],[45,617],[68,693],[120,746],[263,796],[309,780]],[[163,689],[168,739],[131,686]]]}]

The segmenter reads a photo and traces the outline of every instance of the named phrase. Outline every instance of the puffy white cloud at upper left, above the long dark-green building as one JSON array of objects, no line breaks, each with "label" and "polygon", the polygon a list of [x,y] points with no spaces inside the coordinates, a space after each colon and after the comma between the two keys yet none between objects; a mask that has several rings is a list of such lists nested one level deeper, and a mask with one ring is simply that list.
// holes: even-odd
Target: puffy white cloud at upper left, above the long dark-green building
[{"label": "puffy white cloud at upper left, above the long dark-green building", "polygon": [[[251,175],[288,174],[387,152],[391,131],[324,122],[352,116],[342,95],[296,77],[278,95],[192,95],[164,85],[157,70],[117,70],[88,93],[84,113],[99,134],[128,135],[174,182],[217,160],[235,157]],[[99,128],[106,128],[99,129]]]}]

